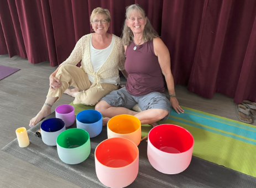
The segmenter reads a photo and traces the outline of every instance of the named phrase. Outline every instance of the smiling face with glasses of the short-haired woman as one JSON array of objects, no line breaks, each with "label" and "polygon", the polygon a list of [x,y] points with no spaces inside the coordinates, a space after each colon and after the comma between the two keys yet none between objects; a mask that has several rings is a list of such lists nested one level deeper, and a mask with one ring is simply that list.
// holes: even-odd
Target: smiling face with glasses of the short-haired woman
[{"label": "smiling face with glasses of the short-haired woman", "polygon": [[[107,20],[107,15],[106,14],[96,14],[92,21],[95,20]],[[102,24],[101,22],[94,23],[92,22],[92,28],[95,31],[95,33],[103,35],[107,33],[107,30],[109,28],[109,22],[106,22],[105,24]]]}]

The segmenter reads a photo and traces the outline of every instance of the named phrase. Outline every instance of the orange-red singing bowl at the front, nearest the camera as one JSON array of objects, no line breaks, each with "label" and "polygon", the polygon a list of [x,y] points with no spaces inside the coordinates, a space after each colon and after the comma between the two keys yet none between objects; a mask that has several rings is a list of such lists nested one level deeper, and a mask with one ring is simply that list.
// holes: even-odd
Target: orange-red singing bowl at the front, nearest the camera
[{"label": "orange-red singing bowl at the front, nearest the camera", "polygon": [[126,187],[139,172],[139,149],[129,139],[109,138],[95,149],[98,179],[112,188]]}]

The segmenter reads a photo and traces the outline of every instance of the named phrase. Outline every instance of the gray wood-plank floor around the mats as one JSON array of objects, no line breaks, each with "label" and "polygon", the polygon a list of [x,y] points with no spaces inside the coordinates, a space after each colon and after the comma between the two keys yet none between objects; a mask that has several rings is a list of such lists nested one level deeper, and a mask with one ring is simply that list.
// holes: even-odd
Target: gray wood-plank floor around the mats
[{"label": "gray wood-plank floor around the mats", "polygon": [[[49,89],[49,76],[56,67],[49,62],[33,65],[27,59],[0,55],[0,65],[20,68],[18,72],[0,80],[0,148],[16,138],[18,127],[29,127],[44,104]],[[175,92],[180,105],[205,111],[211,114],[238,120],[236,104],[232,98],[215,94],[205,99],[188,92],[186,87],[176,85]],[[71,96],[62,95],[52,109],[61,104],[69,104]],[[254,119],[255,120],[255,119]],[[253,125],[256,125],[254,122]],[[0,187],[78,187],[33,164],[24,162],[10,154],[0,151]]]}]

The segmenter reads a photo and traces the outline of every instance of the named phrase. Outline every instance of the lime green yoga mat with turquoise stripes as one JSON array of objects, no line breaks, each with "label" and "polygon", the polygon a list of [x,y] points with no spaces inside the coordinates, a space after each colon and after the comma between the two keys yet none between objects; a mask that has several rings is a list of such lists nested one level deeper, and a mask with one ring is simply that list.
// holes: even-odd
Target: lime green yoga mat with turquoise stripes
[{"label": "lime green yoga mat with turquoise stripes", "polygon": [[[75,114],[94,106],[74,105]],[[170,123],[186,128],[194,137],[195,157],[256,177],[256,127],[247,123],[186,108],[184,114],[171,111]],[[142,125],[142,137],[152,127]]]}]

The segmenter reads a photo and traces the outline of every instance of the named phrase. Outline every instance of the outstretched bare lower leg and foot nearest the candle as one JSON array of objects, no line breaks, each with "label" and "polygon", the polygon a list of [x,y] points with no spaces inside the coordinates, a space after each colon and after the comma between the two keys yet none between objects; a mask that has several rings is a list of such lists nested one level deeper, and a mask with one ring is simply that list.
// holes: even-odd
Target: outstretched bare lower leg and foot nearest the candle
[{"label": "outstretched bare lower leg and foot nearest the candle", "polygon": [[55,103],[56,100],[58,100],[58,96],[46,98],[42,109],[38,112],[38,114],[35,117],[33,117],[30,120],[29,126],[34,127],[44,117],[49,116],[51,114],[51,106],[53,106],[53,104]]}]

